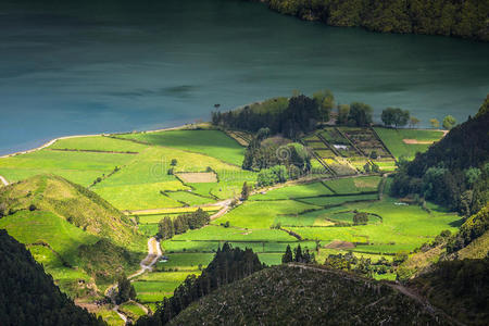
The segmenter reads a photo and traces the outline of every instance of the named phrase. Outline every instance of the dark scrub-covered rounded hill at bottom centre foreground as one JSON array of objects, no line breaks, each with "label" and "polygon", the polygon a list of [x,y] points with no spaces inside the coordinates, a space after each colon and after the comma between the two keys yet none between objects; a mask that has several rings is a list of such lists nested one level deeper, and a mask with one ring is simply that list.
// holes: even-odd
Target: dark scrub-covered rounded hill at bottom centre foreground
[{"label": "dark scrub-covered rounded hill at bottom centre foreground", "polygon": [[333,269],[274,266],[217,289],[171,325],[451,324],[396,287]]}]

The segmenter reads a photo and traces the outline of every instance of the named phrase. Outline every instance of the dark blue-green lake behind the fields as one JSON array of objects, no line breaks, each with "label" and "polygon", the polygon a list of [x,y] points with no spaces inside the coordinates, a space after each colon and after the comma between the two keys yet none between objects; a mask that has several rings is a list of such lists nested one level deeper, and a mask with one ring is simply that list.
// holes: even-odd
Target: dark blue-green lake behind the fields
[{"label": "dark blue-green lake behind the fields", "polygon": [[[145,8],[141,9],[141,3]],[[328,27],[236,0],[0,3],[0,153],[58,136],[209,120],[328,88],[376,120],[464,121],[489,91],[489,43]]]}]

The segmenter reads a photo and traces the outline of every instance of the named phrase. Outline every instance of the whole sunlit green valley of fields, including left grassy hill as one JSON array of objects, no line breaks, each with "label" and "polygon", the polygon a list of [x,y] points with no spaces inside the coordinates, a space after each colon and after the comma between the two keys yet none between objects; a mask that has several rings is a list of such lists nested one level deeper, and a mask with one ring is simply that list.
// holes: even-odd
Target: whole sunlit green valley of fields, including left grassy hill
[{"label": "whole sunlit green valley of fields, including left grassy hill", "polygon": [[[25,243],[82,305],[114,289],[114,278],[100,273],[108,271],[104,264],[120,264],[111,269],[129,275],[145,309],[130,302],[113,310],[108,303],[91,308],[114,325],[123,323],[117,314],[134,319],[154,312],[188,275],[200,275],[225,242],[251,248],[267,265],[280,264],[287,246],[300,244],[318,262],[351,253],[390,262],[387,269],[378,265],[373,276],[394,279],[389,265],[396,254],[412,252],[441,230],[455,233],[461,224],[460,216],[439,205],[428,203],[424,210],[388,195],[396,161],[412,159],[428,146],[403,140],[437,141],[442,136],[431,130],[324,127],[301,140],[312,153],[310,174],[258,187],[246,201],[239,199],[242,185],[254,185],[259,175],[240,166],[243,139],[249,142],[250,134],[200,124],[60,139],[0,160],[0,174],[12,184],[2,190],[10,211],[0,227]],[[365,165],[378,170],[365,172]],[[72,188],[89,198],[89,204],[118,214],[124,225],[114,225],[115,215],[95,213],[98,206],[77,202]],[[36,208],[30,211],[29,204]],[[98,217],[72,216],[77,206]],[[154,241],[165,216],[173,220],[198,208],[210,214],[209,225],[148,242],[143,259],[145,239]],[[359,212],[367,216],[365,224],[354,223]],[[123,229],[112,235],[116,227]],[[153,246],[161,246],[162,252],[156,254]]]}]

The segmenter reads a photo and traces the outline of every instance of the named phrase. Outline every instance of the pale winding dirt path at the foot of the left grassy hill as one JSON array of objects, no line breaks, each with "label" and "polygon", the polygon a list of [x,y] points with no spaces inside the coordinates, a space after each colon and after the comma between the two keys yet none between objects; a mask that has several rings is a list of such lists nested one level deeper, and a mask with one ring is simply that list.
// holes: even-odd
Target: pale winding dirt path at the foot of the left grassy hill
[{"label": "pale winding dirt path at the foot of the left grassy hill", "polygon": [[[141,266],[141,268],[138,272],[127,276],[127,279],[135,278],[146,272],[151,272],[152,266],[162,255],[163,253],[161,251],[160,242],[156,240],[156,238],[152,237],[148,239],[148,255],[139,263],[139,266]],[[112,304],[114,304],[114,308],[112,310],[117,313],[117,315],[121,317],[121,319],[124,321],[124,323],[127,323],[127,316],[118,310],[118,304],[115,302],[116,289],[117,284],[110,286],[105,291],[105,296],[110,297],[112,300]],[[148,313],[148,309],[145,305],[138,302],[135,303],[139,305],[146,313]]]}]

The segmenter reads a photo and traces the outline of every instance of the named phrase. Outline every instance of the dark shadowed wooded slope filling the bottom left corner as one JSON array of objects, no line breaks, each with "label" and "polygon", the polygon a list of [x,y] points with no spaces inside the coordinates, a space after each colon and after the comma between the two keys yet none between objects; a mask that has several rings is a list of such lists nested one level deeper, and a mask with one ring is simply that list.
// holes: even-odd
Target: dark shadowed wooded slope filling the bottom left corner
[{"label": "dark shadowed wooded slope filling the bottom left corner", "polygon": [[2,325],[104,325],[76,306],[25,247],[0,230]]}]

